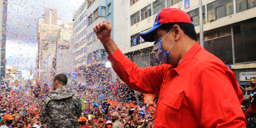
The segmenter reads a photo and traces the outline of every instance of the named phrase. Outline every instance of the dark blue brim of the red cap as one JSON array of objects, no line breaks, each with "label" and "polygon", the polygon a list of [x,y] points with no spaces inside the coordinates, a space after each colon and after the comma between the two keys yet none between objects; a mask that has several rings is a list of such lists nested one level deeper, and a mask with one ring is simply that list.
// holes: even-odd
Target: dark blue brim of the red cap
[{"label": "dark blue brim of the red cap", "polygon": [[150,30],[146,30],[146,31],[143,31],[143,32],[140,32],[140,36],[146,41],[146,42],[154,42],[155,39],[154,39],[154,35],[153,35],[153,31],[155,31],[157,28],[159,28],[161,26],[160,25],[154,25],[152,27],[152,29]]}]

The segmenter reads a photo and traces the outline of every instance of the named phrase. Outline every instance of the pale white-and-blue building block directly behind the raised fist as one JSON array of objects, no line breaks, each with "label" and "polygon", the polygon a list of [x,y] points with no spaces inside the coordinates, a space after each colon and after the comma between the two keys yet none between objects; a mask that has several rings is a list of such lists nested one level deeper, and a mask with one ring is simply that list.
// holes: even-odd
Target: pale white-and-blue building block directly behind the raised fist
[{"label": "pale white-and-blue building block directly behind the raised fist", "polygon": [[[129,41],[129,3],[120,0],[84,1],[74,14],[74,64],[77,80],[86,85],[100,85],[114,79],[106,67],[106,52],[93,27],[103,20],[112,24],[111,38],[124,51]],[[93,77],[92,77],[93,76]]]}]

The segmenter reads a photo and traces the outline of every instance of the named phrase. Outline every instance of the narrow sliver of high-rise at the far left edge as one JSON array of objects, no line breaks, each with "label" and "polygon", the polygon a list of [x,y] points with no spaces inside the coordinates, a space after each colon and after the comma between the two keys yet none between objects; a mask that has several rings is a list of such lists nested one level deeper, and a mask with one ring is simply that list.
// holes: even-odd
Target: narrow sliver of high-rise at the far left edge
[{"label": "narrow sliver of high-rise at the far left edge", "polygon": [[7,0],[0,0],[0,33],[1,33],[1,73],[0,77],[4,77],[5,74],[5,42],[6,42],[6,21],[7,21]]}]

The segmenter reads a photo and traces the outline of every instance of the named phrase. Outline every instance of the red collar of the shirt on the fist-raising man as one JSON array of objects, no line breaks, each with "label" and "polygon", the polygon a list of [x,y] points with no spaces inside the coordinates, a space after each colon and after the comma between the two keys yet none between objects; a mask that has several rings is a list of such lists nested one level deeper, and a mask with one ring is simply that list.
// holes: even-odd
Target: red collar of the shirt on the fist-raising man
[{"label": "red collar of the shirt on the fist-raising man", "polygon": [[175,70],[179,75],[182,75],[187,68],[188,64],[192,60],[192,58],[196,55],[196,53],[201,49],[201,45],[196,42],[185,54],[185,56],[182,58],[182,61],[180,60],[177,64],[177,67],[170,67],[171,70]]}]

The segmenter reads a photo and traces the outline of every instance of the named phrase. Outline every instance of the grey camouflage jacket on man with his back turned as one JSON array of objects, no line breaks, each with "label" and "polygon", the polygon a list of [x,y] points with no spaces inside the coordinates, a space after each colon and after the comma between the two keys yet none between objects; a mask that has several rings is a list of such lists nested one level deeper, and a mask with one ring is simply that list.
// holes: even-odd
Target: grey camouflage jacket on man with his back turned
[{"label": "grey camouflage jacket on man with his back turned", "polygon": [[82,114],[80,96],[68,86],[60,86],[45,97],[39,120],[47,128],[79,128]]}]

